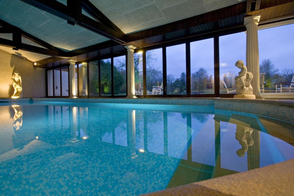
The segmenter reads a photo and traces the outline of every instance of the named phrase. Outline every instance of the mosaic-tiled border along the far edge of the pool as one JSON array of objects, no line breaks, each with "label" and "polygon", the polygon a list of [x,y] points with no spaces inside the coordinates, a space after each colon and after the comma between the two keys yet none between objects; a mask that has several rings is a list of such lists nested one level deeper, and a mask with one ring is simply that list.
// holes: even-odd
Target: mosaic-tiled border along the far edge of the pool
[{"label": "mosaic-tiled border along the far edge of the pool", "polygon": [[[248,100],[231,98],[1,98],[0,103],[113,103],[214,106],[215,109],[263,115],[294,124],[294,100]],[[196,111],[197,112],[197,111]]]}]

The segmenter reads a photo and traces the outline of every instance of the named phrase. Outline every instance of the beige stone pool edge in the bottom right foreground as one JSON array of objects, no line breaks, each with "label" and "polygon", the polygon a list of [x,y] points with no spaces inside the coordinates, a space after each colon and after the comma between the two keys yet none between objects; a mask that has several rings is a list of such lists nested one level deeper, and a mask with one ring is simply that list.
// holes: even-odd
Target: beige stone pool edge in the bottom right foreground
[{"label": "beige stone pool edge in the bottom right foreground", "polygon": [[294,195],[294,159],[147,195]]}]

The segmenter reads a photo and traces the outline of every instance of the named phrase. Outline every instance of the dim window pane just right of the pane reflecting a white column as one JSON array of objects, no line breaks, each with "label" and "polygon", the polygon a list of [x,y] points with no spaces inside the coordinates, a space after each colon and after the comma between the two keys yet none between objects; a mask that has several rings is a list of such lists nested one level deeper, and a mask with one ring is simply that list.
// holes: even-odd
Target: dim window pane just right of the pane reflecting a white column
[{"label": "dim window pane just right of the pane reflecting a white column", "polygon": [[89,62],[89,93],[90,96],[99,96],[99,61]]}]

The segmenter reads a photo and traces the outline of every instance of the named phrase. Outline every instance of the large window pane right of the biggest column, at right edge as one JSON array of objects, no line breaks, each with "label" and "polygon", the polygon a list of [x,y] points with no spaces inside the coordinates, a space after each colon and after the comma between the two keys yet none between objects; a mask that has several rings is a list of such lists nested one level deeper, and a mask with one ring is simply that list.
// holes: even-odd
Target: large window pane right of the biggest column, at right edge
[{"label": "large window pane right of the biggest column, at right edge", "polygon": [[294,24],[258,31],[261,93],[294,92],[293,32]]}]

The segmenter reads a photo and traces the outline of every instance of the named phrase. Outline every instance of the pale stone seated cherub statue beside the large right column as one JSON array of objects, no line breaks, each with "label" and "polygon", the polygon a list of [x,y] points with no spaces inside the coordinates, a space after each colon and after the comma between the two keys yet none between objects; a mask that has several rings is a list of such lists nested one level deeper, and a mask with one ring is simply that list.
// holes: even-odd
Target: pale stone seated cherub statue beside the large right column
[{"label": "pale stone seated cherub statue beside the large right column", "polygon": [[235,63],[235,66],[241,69],[238,73],[238,76],[235,77],[235,85],[236,85],[236,94],[237,95],[252,95],[253,88],[250,84],[250,81],[253,78],[251,72],[247,71],[244,62],[239,60]]}]

